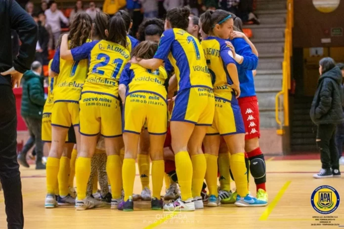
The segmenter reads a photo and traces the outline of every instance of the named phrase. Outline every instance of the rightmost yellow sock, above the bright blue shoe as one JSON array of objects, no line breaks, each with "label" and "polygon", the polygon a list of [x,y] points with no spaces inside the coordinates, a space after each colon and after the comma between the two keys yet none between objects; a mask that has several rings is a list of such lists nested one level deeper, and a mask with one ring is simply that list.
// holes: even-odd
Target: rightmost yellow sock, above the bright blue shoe
[{"label": "rightmost yellow sock, above the bright blue shoe", "polygon": [[245,154],[235,153],[230,157],[230,168],[235,180],[236,191],[241,197],[245,197],[248,193],[247,170],[245,166]]}]

